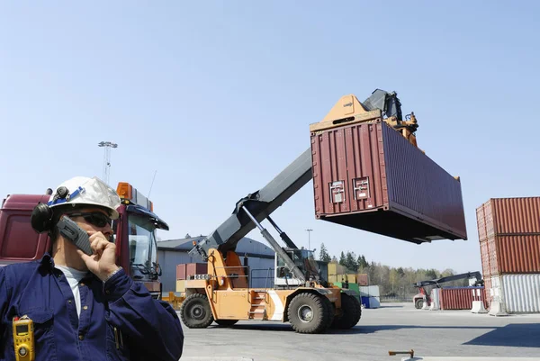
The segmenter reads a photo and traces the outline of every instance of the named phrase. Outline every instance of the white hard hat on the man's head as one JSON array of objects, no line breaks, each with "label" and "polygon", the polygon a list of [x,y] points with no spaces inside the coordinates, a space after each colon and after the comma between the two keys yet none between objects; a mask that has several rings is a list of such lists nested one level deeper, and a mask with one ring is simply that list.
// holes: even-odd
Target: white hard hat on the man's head
[{"label": "white hard hat on the man's head", "polygon": [[[60,189],[64,187],[65,189]],[[94,176],[75,176],[68,179],[53,191],[50,195],[50,208],[66,207],[68,205],[96,205],[106,208],[113,220],[118,219],[116,210],[120,204],[120,197],[109,185],[106,185],[101,179]]]}]

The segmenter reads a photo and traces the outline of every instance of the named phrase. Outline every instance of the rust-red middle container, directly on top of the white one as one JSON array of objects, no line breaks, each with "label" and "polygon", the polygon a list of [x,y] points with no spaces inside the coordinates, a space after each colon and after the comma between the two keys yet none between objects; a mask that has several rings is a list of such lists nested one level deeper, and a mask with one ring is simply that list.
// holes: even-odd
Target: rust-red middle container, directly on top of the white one
[{"label": "rust-red middle container, directly on top of the white one", "polygon": [[484,278],[540,273],[540,235],[494,236],[481,242],[480,249]]}]

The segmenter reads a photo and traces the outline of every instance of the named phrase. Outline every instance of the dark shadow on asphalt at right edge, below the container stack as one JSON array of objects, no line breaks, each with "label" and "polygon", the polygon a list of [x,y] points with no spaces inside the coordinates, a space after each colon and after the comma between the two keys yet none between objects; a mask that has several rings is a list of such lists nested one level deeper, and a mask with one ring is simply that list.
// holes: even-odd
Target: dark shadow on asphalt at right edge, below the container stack
[{"label": "dark shadow on asphalt at right edge, below the container stack", "polygon": [[540,324],[512,323],[473,338],[464,345],[540,347]]}]

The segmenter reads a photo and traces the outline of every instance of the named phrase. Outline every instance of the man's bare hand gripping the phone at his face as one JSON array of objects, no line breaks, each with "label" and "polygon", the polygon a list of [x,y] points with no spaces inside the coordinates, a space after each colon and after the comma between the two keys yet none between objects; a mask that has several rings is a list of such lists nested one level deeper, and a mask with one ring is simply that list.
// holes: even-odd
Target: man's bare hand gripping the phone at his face
[{"label": "man's bare hand gripping the phone at his face", "polygon": [[116,245],[103,236],[102,232],[88,232],[90,236],[90,247],[94,255],[88,256],[82,250],[77,249],[78,254],[85,262],[90,272],[100,280],[105,281],[112,272],[119,267],[116,266]]}]

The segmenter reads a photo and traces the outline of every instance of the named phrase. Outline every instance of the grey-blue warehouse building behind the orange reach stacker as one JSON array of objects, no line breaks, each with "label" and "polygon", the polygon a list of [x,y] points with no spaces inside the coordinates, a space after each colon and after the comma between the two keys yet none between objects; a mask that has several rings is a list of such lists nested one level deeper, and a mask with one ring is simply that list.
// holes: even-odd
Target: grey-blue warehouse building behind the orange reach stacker
[{"label": "grey-blue warehouse building behind the orange reach stacker", "polygon": [[[157,262],[162,269],[163,293],[175,292],[176,265],[202,262],[200,257],[189,255],[189,251],[193,248],[193,240],[199,242],[202,239],[204,239],[203,236],[157,242]],[[242,262],[244,262],[244,257],[247,257],[251,287],[262,288],[274,285],[274,249],[255,239],[245,237],[238,242],[236,252]]]}]

